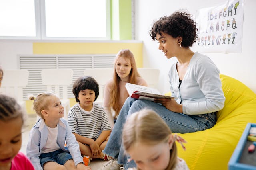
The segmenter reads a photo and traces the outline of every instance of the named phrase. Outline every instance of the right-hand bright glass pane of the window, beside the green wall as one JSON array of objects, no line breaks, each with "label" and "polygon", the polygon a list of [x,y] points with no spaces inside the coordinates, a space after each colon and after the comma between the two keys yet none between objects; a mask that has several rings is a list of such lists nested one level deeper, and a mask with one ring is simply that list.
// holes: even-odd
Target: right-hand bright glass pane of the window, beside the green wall
[{"label": "right-hand bright glass pane of the window, beside the green wall", "polygon": [[45,0],[46,38],[106,38],[106,0]]}]

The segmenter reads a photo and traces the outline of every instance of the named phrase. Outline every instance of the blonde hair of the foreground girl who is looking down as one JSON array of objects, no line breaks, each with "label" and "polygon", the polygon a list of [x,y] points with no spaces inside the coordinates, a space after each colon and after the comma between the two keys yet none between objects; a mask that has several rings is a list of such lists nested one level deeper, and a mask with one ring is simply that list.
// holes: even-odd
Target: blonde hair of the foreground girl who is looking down
[{"label": "blonde hair of the foreground girl who is looking down", "polygon": [[[143,109],[128,117],[122,132],[124,150],[129,150],[137,142],[156,145],[167,142],[172,131],[164,120],[153,110]],[[177,161],[177,147],[174,142],[170,150],[170,162],[166,170],[172,170]],[[139,170],[139,168],[138,168]]]}]

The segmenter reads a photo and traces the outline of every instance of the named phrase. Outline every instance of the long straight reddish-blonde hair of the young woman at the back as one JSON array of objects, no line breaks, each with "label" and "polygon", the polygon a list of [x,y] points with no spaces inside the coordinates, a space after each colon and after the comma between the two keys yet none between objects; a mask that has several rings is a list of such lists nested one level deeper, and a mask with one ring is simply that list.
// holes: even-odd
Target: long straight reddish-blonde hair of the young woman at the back
[{"label": "long straight reddish-blonde hair of the young woman at the back", "polygon": [[137,77],[140,77],[140,74],[138,73],[137,67],[136,67],[136,63],[135,63],[135,59],[134,59],[134,55],[132,54],[132,52],[129,49],[122,49],[120,50],[117,55],[116,55],[116,59],[114,61],[114,75],[113,75],[113,85],[110,87],[110,107],[112,107],[112,109],[116,112],[115,117],[119,114],[120,112],[120,106],[118,104],[119,101],[119,82],[121,81],[120,77],[118,76],[118,74],[116,73],[116,62],[118,61],[118,59],[120,57],[124,57],[125,59],[128,59],[130,61],[130,64],[132,66],[132,69],[130,71],[129,74],[129,80],[128,83],[132,83],[132,84],[137,84]]}]

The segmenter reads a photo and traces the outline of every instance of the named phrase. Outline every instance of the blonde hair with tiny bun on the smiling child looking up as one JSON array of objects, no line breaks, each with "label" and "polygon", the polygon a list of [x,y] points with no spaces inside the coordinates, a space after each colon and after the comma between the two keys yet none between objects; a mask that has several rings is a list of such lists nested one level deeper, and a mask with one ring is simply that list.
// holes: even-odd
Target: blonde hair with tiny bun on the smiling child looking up
[{"label": "blonde hair with tiny bun on the smiling child looking up", "polygon": [[45,93],[40,93],[37,95],[35,98],[33,95],[29,96],[29,100],[34,100],[33,106],[34,106],[34,111],[36,114],[40,117],[43,117],[41,111],[48,109],[48,104],[49,104],[49,96],[56,96],[56,94],[52,92],[45,92]]}]

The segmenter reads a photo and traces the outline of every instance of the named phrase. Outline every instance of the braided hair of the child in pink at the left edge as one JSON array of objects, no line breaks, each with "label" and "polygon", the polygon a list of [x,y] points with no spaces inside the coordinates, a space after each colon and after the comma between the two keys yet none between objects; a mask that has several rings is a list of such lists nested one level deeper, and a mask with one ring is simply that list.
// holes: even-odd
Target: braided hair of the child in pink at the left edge
[{"label": "braided hair of the child in pink at the left edge", "polygon": [[9,121],[21,117],[22,125],[24,124],[24,113],[18,102],[4,94],[0,94],[0,120]]}]

